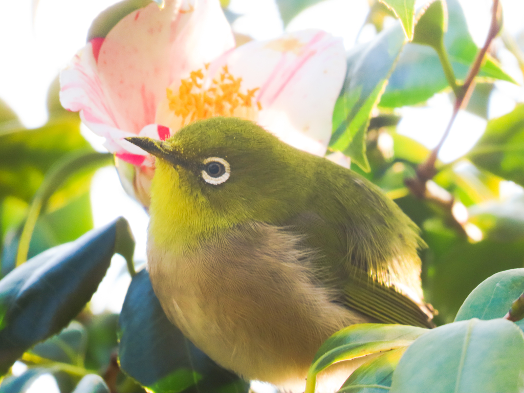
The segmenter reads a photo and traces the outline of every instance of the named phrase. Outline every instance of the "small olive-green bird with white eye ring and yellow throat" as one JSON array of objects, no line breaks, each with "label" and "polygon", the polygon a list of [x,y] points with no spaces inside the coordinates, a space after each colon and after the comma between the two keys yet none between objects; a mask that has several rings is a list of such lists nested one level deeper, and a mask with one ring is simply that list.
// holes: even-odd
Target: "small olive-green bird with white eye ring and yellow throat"
[{"label": "small olive-green bird with white eye ring and yellow throat", "polygon": [[[163,142],[127,140],[157,157],[152,286],[216,363],[302,392],[315,352],[345,326],[432,325],[416,225],[355,172],[232,117]],[[319,391],[335,391],[363,362],[328,368]]]}]

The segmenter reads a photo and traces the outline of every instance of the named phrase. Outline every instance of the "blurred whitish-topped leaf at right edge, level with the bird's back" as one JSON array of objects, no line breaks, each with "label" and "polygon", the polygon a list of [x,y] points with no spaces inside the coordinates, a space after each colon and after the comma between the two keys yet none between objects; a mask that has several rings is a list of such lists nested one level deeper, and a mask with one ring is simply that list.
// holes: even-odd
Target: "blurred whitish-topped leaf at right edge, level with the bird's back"
[{"label": "blurred whitish-topped leaf at right edge, level with the bird's back", "polygon": [[478,226],[485,237],[507,242],[524,240],[523,195],[472,206],[469,214],[469,221]]}]

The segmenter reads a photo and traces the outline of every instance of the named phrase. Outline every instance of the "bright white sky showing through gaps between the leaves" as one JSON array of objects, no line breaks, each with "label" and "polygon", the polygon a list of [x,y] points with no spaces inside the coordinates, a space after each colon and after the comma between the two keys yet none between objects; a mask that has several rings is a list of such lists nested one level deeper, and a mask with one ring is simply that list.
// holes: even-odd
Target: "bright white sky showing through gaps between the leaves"
[{"label": "bright white sky showing through gaps between the leaves", "polygon": [[[468,27],[478,46],[482,46],[489,26],[492,0],[461,0]],[[46,122],[46,94],[51,81],[84,44],[93,18],[114,0],[40,0],[34,23],[31,0],[1,0],[0,13],[0,98],[19,115],[27,127]],[[418,4],[424,3],[418,1]],[[506,29],[512,35],[524,29],[524,1],[501,0]],[[235,21],[236,31],[255,39],[268,39],[283,31],[274,0],[232,0],[230,9],[244,16]],[[354,45],[357,32],[368,12],[366,0],[325,0],[305,10],[291,21],[288,29],[321,28],[344,38],[347,48]],[[364,29],[359,41],[374,35],[374,28]],[[512,55],[501,49],[503,68],[522,84],[522,74]],[[515,102],[524,102],[521,86],[497,82],[490,99],[489,116],[498,117],[511,111]],[[452,112],[446,93],[437,94],[428,105],[402,108],[403,119],[398,131],[428,147],[436,145]],[[486,121],[475,115],[461,113],[440,158],[451,161],[466,152],[481,136]],[[83,134],[95,148],[104,151],[99,137],[88,129]],[[102,169],[93,179],[91,199],[95,226],[102,226],[118,216],[125,216],[137,239],[135,258],[144,263],[147,214],[123,191],[113,168]],[[92,301],[94,312],[121,308],[129,284],[124,261],[113,259],[107,277]],[[124,273],[124,274],[123,274]],[[119,277],[119,278],[118,278]],[[48,381],[49,383],[49,381]],[[31,388],[32,389],[32,388]],[[37,390],[34,390],[37,389]],[[31,390],[43,391],[35,386]],[[47,390],[50,391],[50,390]]]}]

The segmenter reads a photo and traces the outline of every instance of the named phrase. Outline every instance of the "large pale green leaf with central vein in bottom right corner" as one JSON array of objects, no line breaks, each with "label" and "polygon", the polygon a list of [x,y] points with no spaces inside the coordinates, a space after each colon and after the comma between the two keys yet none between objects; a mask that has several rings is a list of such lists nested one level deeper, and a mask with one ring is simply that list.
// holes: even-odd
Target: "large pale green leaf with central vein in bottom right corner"
[{"label": "large pale green leaf with central vein in bottom right corner", "polygon": [[390,393],[518,392],[524,336],[513,322],[472,319],[429,331],[407,349]]}]

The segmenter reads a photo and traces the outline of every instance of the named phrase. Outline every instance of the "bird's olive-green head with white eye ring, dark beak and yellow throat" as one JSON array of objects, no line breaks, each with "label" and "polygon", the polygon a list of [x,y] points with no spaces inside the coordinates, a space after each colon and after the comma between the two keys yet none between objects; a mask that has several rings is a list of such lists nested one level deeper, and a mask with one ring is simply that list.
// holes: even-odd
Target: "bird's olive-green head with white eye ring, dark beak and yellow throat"
[{"label": "bird's olive-green head with white eye ring, dark beak and yellow throat", "polygon": [[[184,242],[247,221],[275,222],[307,187],[313,156],[234,117],[192,123],[166,141],[126,138],[157,157],[149,234]],[[180,233],[175,236],[182,236]]]}]

